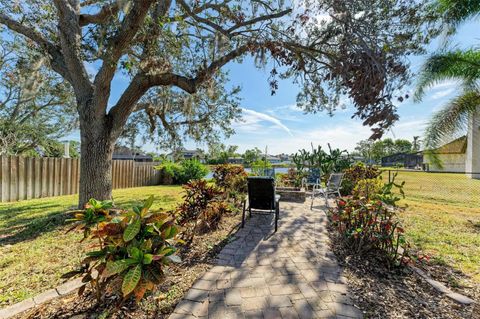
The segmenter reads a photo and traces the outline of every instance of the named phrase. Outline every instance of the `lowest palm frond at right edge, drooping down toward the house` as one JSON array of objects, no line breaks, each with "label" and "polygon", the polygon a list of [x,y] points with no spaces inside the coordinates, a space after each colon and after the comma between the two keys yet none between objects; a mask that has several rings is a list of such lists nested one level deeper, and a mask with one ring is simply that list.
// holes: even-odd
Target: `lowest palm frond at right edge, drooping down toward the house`
[{"label": "lowest palm frond at right edge, drooping down toward the house", "polygon": [[434,151],[465,130],[469,116],[480,106],[480,91],[465,91],[435,113],[425,130],[425,149]]}]

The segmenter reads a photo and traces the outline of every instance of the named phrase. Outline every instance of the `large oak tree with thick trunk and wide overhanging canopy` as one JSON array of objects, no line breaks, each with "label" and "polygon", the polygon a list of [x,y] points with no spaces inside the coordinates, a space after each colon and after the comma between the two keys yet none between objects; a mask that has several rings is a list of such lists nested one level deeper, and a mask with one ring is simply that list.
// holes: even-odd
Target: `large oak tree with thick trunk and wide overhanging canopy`
[{"label": "large oak tree with thick trunk and wide overhanging canopy", "polygon": [[[113,146],[135,112],[152,131],[175,136],[186,124],[208,135],[226,103],[222,67],[247,55],[270,69],[272,92],[292,77],[310,112],[348,96],[380,136],[397,119],[392,101],[404,98],[404,56],[428,40],[423,17],[417,0],[0,0],[2,37],[35,44],[75,94],[80,204],[111,196]],[[129,84],[109,104],[119,73]]]}]

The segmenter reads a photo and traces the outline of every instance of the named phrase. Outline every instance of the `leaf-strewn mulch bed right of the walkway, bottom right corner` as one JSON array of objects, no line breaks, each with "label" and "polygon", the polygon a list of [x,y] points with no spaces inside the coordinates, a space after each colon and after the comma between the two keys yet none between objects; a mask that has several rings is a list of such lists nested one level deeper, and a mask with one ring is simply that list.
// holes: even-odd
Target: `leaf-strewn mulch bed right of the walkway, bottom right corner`
[{"label": "leaf-strewn mulch bed right of the walkway, bottom right corner", "polygon": [[[330,232],[330,237],[332,250],[345,267],[352,300],[366,318],[480,318],[479,287],[472,281],[469,281],[470,288],[449,287],[476,300],[474,305],[461,305],[435,290],[409,268],[388,269],[380,256],[352,256],[335,232]],[[449,275],[460,276],[447,266],[421,268],[444,284],[448,282],[442,279],[451,278]],[[462,275],[464,280],[465,277]]]}]

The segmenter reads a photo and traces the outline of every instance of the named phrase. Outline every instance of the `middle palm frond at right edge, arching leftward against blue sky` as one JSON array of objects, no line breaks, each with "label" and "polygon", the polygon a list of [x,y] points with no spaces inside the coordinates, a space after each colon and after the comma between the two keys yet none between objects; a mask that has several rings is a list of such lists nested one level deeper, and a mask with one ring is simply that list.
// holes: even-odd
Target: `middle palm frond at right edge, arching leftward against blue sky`
[{"label": "middle palm frond at right edge, arching leftward against blue sky", "polygon": [[449,79],[460,80],[465,87],[480,79],[480,50],[456,50],[430,56],[420,70],[414,99],[420,101],[427,88]]}]

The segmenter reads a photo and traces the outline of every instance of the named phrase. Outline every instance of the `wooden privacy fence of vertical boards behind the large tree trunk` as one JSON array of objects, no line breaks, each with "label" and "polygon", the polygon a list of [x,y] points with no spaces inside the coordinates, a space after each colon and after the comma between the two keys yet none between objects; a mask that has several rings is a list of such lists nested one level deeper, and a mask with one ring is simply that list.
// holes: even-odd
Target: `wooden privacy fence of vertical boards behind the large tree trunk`
[{"label": "wooden privacy fence of vertical boards behind the large tree trunk", "polygon": [[[78,193],[80,160],[0,156],[1,202]],[[112,161],[113,188],[159,185],[158,163]]]}]

